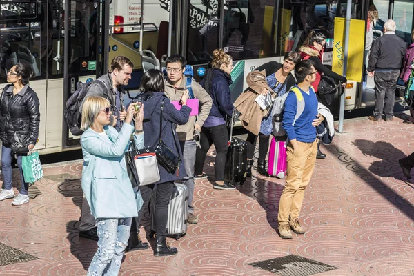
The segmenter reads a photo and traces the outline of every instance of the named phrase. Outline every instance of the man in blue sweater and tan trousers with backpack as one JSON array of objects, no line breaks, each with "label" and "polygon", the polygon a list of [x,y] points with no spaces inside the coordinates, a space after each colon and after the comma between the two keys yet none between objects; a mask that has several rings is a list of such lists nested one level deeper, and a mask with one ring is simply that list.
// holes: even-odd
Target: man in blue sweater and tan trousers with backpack
[{"label": "man in blue sweater and tan trousers with backpack", "polygon": [[298,217],[305,188],[315,168],[316,127],[324,120],[317,113],[317,97],[311,86],[316,73],[313,61],[299,61],[295,66],[297,86],[290,89],[285,101],[282,126],[288,135],[288,167],[277,215],[279,235],[283,239],[292,239],[290,230],[297,234],[305,233]]}]

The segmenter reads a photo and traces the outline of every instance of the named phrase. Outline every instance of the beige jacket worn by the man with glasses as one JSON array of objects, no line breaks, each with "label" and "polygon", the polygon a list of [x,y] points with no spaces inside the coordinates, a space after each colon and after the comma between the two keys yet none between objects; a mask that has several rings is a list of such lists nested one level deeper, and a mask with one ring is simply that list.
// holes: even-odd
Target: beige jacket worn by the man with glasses
[{"label": "beige jacket worn by the man with glasses", "polygon": [[[179,87],[175,87],[167,81],[166,84],[166,95],[170,101],[179,101],[183,95],[185,88],[186,78],[183,77]],[[190,116],[188,123],[183,126],[177,126],[177,135],[179,141],[189,141],[193,140],[194,135],[194,125],[197,124],[200,127],[203,126],[204,121],[206,121],[208,115],[210,114],[211,106],[213,105],[213,100],[210,95],[204,90],[202,86],[199,85],[196,81],[193,80],[191,83],[191,88],[193,88],[193,94],[196,99],[199,99],[199,116]]]}]

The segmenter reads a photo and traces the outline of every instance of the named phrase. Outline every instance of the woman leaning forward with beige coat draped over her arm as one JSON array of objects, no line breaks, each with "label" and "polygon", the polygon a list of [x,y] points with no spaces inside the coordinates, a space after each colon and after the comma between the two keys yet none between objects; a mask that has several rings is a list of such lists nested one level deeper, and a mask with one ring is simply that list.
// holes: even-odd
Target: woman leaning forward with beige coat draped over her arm
[{"label": "woman leaning forward with beige coat draped over her arm", "polygon": [[[283,64],[276,61],[270,61],[259,66],[255,70],[266,70],[266,81],[268,86],[276,93],[276,97],[284,95],[289,92],[290,88],[296,84],[296,79],[290,73],[295,69],[296,63],[300,60],[300,55],[297,52],[288,52],[284,56]],[[264,91],[267,95],[267,91]],[[257,172],[260,175],[268,177],[266,170],[266,155],[269,148],[269,137],[272,132],[272,115],[269,112],[267,117],[262,119],[259,132],[259,157],[257,159]],[[255,152],[255,144],[257,135],[248,132],[247,135],[247,177],[252,175],[253,154]]]}]

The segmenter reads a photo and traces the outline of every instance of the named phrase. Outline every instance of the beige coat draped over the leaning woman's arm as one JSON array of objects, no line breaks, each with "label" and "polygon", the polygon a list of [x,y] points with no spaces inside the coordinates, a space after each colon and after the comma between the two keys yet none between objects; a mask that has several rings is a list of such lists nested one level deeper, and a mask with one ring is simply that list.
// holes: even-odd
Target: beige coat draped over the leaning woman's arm
[{"label": "beige coat draped over the leaning woman's arm", "polygon": [[276,95],[267,84],[265,70],[248,73],[246,82],[249,87],[237,98],[234,105],[237,111],[242,113],[239,117],[242,126],[254,135],[259,135],[260,124],[262,124],[262,119],[268,114],[269,110],[262,110],[255,99],[262,94],[263,88],[270,91],[272,97]]}]

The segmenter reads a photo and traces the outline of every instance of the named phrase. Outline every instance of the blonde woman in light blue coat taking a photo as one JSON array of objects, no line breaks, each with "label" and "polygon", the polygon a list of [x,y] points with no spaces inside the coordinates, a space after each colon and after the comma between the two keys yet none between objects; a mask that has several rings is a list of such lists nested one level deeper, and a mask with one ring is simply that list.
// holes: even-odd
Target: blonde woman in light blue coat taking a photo
[{"label": "blonde woman in light blue coat taking a photo", "polygon": [[[82,190],[97,221],[97,253],[88,275],[118,275],[128,244],[132,217],[142,206],[139,191],[132,188],[126,172],[124,153],[134,133],[135,146],[144,147],[144,106],[127,110],[120,132],[110,126],[110,103],[103,97],[88,97],[82,108],[83,152]],[[135,128],[132,126],[134,117]]]}]

